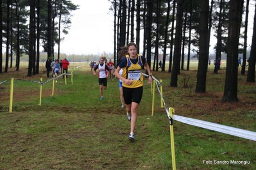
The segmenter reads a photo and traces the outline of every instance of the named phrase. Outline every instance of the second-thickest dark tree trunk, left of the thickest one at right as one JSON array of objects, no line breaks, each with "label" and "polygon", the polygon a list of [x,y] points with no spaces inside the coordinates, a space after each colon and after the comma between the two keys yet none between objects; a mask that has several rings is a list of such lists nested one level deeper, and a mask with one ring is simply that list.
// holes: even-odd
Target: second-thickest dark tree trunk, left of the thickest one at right
[{"label": "second-thickest dark tree trunk, left of the thickest one at right", "polygon": [[[209,56],[208,45],[208,19],[209,19],[209,2],[205,0],[200,1],[200,39],[199,39],[199,59],[198,59],[198,73],[196,81],[196,93],[205,93],[207,66]],[[207,37],[207,38],[205,38]]]}]

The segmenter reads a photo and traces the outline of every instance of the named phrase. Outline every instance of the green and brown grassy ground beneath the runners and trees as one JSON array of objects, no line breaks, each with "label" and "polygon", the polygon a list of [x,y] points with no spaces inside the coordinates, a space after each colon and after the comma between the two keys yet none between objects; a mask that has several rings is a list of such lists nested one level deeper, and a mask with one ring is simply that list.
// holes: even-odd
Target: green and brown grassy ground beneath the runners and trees
[{"label": "green and brown grassy ground beneath the runners and trees", "polygon": [[[26,66],[26,63],[24,65]],[[11,77],[47,80],[46,74],[26,77],[27,69],[10,68]],[[78,67],[81,66],[81,67]],[[223,68],[225,63],[223,62]],[[42,63],[43,72],[44,63]],[[73,70],[74,69],[74,70]],[[239,102],[223,103],[225,70],[207,72],[207,93],[194,93],[196,63],[178,75],[178,88],[169,86],[171,73],[153,72],[163,80],[163,97],[175,114],[256,132],[256,86],[238,75]],[[240,68],[239,68],[240,69]],[[151,86],[144,80],[135,141],[128,140],[130,122],[119,100],[118,80],[108,81],[99,100],[98,77],[89,63],[71,63],[71,77],[60,78],[51,96],[52,81],[14,81],[13,111],[8,112],[10,81],[0,84],[0,169],[172,169],[169,120],[156,93],[151,116]],[[166,69],[167,70],[167,69]],[[191,88],[184,87],[184,80]],[[255,169],[256,142],[174,121],[176,169]],[[231,164],[230,161],[242,161]],[[228,161],[228,162],[227,162]],[[223,163],[223,164],[222,164]],[[244,164],[243,164],[244,163]]]}]

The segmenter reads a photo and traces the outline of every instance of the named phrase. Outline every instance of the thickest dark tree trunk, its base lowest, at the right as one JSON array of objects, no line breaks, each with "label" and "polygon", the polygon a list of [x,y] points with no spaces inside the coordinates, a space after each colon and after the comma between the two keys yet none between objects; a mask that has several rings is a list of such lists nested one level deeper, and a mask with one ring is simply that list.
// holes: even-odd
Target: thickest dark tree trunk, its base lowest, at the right
[{"label": "thickest dark tree trunk, its base lowest, at the right", "polygon": [[228,42],[226,56],[226,80],[223,102],[237,102],[237,58],[240,27],[243,13],[243,0],[230,0]]}]

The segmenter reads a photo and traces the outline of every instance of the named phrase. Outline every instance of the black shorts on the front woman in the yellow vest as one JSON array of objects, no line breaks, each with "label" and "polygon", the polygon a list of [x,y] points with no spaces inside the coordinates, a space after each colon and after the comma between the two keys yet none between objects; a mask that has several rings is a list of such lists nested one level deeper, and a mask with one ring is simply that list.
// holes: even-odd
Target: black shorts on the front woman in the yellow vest
[{"label": "black shorts on the front woman in the yellow vest", "polygon": [[143,86],[139,88],[125,88],[123,86],[123,95],[125,104],[132,104],[135,102],[140,104],[143,93]]}]

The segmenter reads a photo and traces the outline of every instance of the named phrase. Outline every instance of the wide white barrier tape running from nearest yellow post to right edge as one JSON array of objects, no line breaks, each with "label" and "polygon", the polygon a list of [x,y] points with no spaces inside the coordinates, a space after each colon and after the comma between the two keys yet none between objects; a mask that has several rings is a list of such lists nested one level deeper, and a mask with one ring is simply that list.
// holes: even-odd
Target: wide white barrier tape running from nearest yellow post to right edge
[{"label": "wide white barrier tape running from nearest yellow post to right edge", "polygon": [[211,123],[209,121],[186,118],[186,117],[178,116],[175,114],[173,114],[173,120],[180,121],[182,123],[186,123],[186,124],[193,125],[196,127],[207,128],[209,130],[214,130],[216,132],[221,132],[223,134],[235,135],[238,137],[243,137],[245,139],[250,139],[252,141],[256,141],[256,132],[252,132],[249,130],[243,130],[240,128],[219,125],[217,123]]}]

